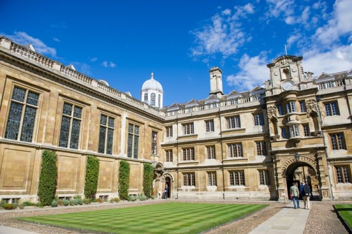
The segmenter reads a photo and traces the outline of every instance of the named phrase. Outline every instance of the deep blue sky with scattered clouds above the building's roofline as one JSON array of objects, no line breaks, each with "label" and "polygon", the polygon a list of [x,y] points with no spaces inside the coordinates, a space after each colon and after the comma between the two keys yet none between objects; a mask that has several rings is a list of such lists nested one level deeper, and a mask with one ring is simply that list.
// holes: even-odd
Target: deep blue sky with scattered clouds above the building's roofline
[{"label": "deep blue sky with scattered clouds above the building's roofline", "polygon": [[213,66],[225,93],[262,85],[285,44],[314,75],[351,69],[351,12],[351,0],[3,0],[0,34],[138,99],[153,71],[166,106],[206,98]]}]

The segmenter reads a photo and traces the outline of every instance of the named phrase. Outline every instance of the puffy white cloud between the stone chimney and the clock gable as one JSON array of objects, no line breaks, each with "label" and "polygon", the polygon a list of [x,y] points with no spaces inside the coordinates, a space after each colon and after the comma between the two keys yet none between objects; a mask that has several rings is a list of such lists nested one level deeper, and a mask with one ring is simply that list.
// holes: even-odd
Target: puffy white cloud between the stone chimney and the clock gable
[{"label": "puffy white cloud between the stone chimney and the clock gable", "polygon": [[256,85],[263,84],[268,80],[269,69],[266,66],[267,56],[265,52],[260,55],[249,57],[244,54],[240,59],[238,67],[240,71],[226,77],[226,81],[230,86],[236,86],[238,91],[251,90]]}]

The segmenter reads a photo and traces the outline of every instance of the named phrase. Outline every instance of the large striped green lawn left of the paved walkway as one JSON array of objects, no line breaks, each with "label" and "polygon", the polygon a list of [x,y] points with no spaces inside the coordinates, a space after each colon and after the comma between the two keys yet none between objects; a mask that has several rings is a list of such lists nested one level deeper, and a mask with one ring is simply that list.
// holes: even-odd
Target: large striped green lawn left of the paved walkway
[{"label": "large striped green lawn left of the paved walkway", "polygon": [[267,205],[163,203],[20,218],[20,220],[110,233],[198,233]]}]

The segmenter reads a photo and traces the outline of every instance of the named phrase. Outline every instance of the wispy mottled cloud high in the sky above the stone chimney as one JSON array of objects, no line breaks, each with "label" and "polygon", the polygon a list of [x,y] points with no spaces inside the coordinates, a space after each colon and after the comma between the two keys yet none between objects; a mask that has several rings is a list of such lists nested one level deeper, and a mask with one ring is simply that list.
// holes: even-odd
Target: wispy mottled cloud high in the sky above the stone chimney
[{"label": "wispy mottled cloud high in the sky above the stone chimney", "polygon": [[246,42],[246,34],[240,28],[239,18],[254,12],[251,4],[234,7],[235,12],[226,9],[211,17],[211,23],[191,31],[195,36],[195,47],[191,56],[206,56],[220,53],[224,58],[237,53],[238,47]]}]

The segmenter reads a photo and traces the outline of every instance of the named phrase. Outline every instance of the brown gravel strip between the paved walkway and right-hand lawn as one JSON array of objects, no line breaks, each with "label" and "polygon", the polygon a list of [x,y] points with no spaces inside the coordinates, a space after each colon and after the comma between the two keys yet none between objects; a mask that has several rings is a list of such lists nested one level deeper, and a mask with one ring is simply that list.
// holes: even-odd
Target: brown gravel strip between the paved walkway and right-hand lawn
[{"label": "brown gravel strip between the paved walkway and right-hand lawn", "polygon": [[337,202],[312,202],[304,234],[344,234],[348,233],[332,205]]}]

